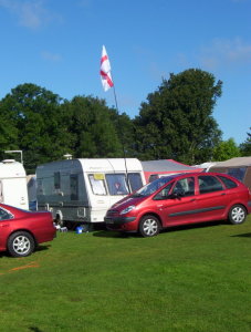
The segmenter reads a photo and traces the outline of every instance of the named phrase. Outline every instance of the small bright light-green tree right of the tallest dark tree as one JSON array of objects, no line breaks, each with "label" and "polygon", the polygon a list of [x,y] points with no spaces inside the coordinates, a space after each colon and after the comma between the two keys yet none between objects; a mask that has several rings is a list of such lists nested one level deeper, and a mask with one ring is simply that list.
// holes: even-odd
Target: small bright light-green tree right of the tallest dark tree
[{"label": "small bright light-green tree right of the tallest dark tree", "polygon": [[240,149],[233,138],[220,142],[213,148],[213,160],[223,162],[234,157],[240,157]]}]

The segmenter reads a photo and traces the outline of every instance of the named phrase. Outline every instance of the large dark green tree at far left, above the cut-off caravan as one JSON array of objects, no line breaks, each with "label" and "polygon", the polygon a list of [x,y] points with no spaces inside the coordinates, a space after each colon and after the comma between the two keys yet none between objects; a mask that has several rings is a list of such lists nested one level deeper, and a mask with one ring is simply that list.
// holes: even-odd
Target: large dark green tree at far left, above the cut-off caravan
[{"label": "large dark green tree at far left, above the cut-off caravan", "polygon": [[59,95],[30,83],[12,89],[0,103],[1,116],[14,127],[8,146],[13,141],[12,145],[23,151],[28,173],[67,152],[71,136],[64,126],[61,103]]}]

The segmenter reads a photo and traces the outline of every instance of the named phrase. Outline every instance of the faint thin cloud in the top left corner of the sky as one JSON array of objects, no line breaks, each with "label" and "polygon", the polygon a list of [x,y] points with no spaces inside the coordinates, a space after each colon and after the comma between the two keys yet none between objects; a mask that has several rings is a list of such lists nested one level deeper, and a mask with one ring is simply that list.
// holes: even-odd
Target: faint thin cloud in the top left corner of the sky
[{"label": "faint thin cloud in the top left corner of the sky", "polygon": [[18,18],[18,23],[38,29],[52,19],[43,0],[0,0],[0,7]]}]

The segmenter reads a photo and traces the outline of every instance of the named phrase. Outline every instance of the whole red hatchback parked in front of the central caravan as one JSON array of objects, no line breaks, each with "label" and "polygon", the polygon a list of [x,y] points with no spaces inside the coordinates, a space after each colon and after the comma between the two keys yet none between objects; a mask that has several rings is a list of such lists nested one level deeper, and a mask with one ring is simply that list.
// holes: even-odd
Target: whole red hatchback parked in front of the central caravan
[{"label": "whole red hatchback parked in front of the central caravan", "polygon": [[190,173],[142,187],[113,205],[104,220],[111,230],[153,237],[177,225],[227,219],[242,224],[250,212],[251,193],[242,183],[220,173]]}]

